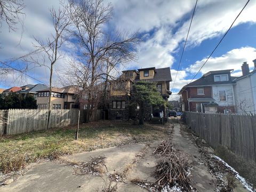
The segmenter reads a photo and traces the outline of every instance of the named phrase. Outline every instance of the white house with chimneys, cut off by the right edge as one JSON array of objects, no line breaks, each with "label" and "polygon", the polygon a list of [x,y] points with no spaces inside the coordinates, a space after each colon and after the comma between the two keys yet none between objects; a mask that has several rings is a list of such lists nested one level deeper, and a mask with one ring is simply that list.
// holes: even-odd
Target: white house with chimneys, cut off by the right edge
[{"label": "white house with chimneys, cut off by the right edge", "polygon": [[256,59],[254,69],[250,72],[249,65],[242,65],[241,77],[234,79],[235,108],[237,113],[256,113]]}]

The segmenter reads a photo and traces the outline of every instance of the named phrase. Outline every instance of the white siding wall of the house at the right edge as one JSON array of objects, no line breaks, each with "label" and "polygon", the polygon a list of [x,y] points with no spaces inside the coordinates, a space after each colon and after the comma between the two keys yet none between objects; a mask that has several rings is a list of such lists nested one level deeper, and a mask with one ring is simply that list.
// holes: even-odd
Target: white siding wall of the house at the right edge
[{"label": "white siding wall of the house at the right edge", "polygon": [[254,110],[250,77],[245,77],[236,82],[234,94],[237,113],[245,113]]}]

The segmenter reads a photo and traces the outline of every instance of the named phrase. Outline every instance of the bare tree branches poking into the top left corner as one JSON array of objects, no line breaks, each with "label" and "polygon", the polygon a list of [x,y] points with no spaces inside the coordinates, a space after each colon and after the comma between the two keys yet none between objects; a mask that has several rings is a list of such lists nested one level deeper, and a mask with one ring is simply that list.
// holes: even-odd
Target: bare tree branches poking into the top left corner
[{"label": "bare tree branches poking into the top left corner", "polygon": [[9,30],[15,31],[17,23],[22,22],[24,7],[22,0],[0,0],[0,27],[4,21],[9,26]]}]

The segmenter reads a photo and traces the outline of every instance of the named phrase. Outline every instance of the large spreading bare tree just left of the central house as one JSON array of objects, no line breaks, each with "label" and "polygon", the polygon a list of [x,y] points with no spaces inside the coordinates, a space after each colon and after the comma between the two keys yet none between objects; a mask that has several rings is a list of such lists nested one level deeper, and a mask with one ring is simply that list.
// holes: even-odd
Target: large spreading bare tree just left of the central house
[{"label": "large spreading bare tree just left of the central house", "polygon": [[92,109],[96,106],[95,87],[102,82],[102,77],[109,73],[109,70],[102,73],[102,66],[105,66],[104,63],[110,63],[111,55],[113,58],[114,55],[119,55],[123,60],[133,59],[134,45],[138,43],[138,38],[137,33],[117,35],[106,31],[105,27],[111,19],[113,7],[111,4],[104,5],[102,0],[70,0],[67,10],[74,25],[74,29],[69,32],[79,46],[78,60],[82,60],[85,68],[89,70],[86,87],[89,106],[86,122],[89,122]]}]

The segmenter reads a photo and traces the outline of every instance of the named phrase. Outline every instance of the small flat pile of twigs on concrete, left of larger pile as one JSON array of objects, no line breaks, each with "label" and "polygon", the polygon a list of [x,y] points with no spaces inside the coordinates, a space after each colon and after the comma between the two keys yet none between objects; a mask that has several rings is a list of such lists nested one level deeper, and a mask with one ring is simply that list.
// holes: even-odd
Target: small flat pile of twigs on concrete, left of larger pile
[{"label": "small flat pile of twigs on concrete, left of larger pile", "polygon": [[[89,162],[84,162],[75,165],[75,173],[79,175],[89,174],[89,175],[101,175],[103,173],[103,166],[105,165],[106,157],[94,157]],[[106,167],[107,169],[107,167]]]}]

